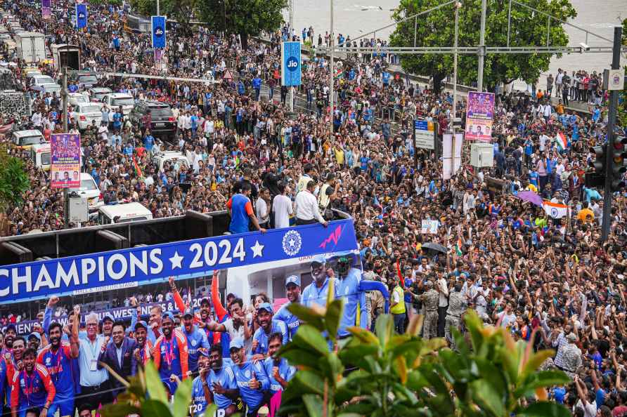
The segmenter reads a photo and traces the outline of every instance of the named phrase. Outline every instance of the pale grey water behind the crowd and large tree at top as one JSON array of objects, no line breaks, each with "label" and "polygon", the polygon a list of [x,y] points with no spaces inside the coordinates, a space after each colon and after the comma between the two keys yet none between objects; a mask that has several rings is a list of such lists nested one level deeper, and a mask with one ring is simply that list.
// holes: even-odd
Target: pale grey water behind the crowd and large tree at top
[{"label": "pale grey water behind the crowd and large tree at top", "polygon": [[[324,39],[325,32],[329,31],[329,1],[294,0],[294,4],[297,33],[301,36],[304,27],[314,27],[314,44],[317,44],[318,34],[322,34]],[[390,9],[395,8],[398,4],[399,2],[396,0],[334,0],[335,34],[341,33],[344,37],[350,35],[351,39],[355,39],[373,29],[391,25],[393,21]],[[577,17],[571,20],[573,25],[583,27],[583,29],[600,34],[607,39],[612,39],[614,25],[619,25],[621,18],[627,18],[627,1],[625,0],[571,0],[571,4],[578,13]],[[285,20],[287,21],[287,13],[285,13]],[[479,27],[477,27],[478,30]],[[581,42],[586,41],[584,32],[569,26],[566,27],[566,30],[570,38],[569,46],[579,46]],[[389,34],[393,31],[394,26],[391,26],[377,32],[376,36],[380,39],[388,39]],[[611,42],[592,36],[588,37],[587,44],[590,46],[612,46]],[[604,68],[609,68],[611,62],[611,54],[576,53],[564,55],[559,59],[553,57],[548,72],[552,72],[554,76],[557,73],[557,68],[567,69],[569,73],[578,69],[602,72]],[[624,56],[621,62],[623,64],[627,62]],[[540,88],[545,84],[544,79],[548,72],[541,76]]]}]

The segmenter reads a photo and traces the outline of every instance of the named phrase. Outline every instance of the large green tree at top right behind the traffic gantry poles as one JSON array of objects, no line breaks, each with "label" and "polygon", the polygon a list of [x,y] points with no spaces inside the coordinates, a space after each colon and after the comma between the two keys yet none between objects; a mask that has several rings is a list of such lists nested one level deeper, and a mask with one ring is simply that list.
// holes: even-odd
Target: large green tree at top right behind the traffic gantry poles
[{"label": "large green tree at top right behind the traffic gantry poles", "polygon": [[[406,15],[426,11],[441,4],[440,0],[401,0],[394,12],[397,22]],[[576,16],[568,0],[530,0],[529,6],[537,8],[560,20]],[[508,0],[488,0],[486,13],[486,46],[507,46]],[[521,6],[512,6],[510,46],[546,46],[547,18]],[[418,18],[416,46],[453,46],[453,4]],[[463,1],[459,11],[459,46],[479,45],[481,0]],[[390,36],[392,46],[413,46],[414,20],[400,22]],[[549,46],[567,46],[568,35],[562,25],[551,20]],[[551,54],[491,54],[484,60],[484,86],[493,89],[498,83],[510,83],[524,79],[535,83],[541,72],[549,67]],[[459,55],[458,82],[471,85],[477,80],[477,55]],[[401,65],[407,72],[433,77],[434,88],[439,91],[440,82],[453,74],[452,54],[401,55]]]}]

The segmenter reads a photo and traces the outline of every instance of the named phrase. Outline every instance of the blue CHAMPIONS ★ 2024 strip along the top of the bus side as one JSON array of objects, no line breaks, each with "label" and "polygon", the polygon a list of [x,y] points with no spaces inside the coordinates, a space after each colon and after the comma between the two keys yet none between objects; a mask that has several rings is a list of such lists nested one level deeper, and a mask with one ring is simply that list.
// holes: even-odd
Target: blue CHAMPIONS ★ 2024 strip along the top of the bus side
[{"label": "blue CHAMPIONS \u2605 2024 strip along the top of the bus side", "polygon": [[356,249],[349,219],[328,227],[304,225],[6,265],[0,267],[0,303],[156,284],[171,276],[202,277],[214,270],[273,269],[277,261],[299,264],[311,256]]}]

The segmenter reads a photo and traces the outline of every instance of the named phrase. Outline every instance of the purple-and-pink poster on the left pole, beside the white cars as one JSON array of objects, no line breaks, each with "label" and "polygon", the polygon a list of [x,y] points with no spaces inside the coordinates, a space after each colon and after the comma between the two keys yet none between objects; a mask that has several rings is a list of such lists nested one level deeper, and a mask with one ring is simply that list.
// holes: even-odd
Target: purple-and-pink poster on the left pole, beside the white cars
[{"label": "purple-and-pink poster on the left pole, beside the white cars", "polygon": [[81,135],[56,133],[50,135],[50,186],[78,188],[81,185]]}]

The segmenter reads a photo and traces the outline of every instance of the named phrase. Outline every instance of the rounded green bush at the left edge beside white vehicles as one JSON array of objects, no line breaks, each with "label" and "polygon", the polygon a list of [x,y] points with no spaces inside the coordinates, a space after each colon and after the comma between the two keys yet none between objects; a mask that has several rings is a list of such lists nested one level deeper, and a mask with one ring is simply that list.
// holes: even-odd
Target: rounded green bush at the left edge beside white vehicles
[{"label": "rounded green bush at the left edge beside white vehicles", "polygon": [[0,146],[0,210],[22,203],[22,195],[30,188],[30,179],[21,159],[11,157]]}]

